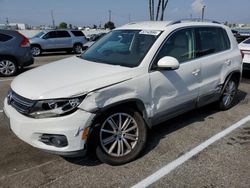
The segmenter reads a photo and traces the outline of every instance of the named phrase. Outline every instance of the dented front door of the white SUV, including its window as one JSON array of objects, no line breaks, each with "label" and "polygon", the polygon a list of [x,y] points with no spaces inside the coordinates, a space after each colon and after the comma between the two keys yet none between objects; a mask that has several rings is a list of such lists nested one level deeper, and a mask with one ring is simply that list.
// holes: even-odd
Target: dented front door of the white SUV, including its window
[{"label": "dented front door of the white SUV, including its window", "polygon": [[182,29],[171,34],[157,54],[154,65],[165,56],[175,57],[180,67],[177,70],[156,68],[150,73],[152,106],[156,122],[192,109],[196,105],[200,84],[200,63],[195,59],[194,29]]}]

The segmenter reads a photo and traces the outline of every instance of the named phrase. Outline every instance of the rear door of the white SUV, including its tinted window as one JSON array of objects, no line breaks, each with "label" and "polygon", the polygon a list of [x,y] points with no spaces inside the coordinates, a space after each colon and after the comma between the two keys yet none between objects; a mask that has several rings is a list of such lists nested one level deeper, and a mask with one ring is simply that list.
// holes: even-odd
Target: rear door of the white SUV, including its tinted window
[{"label": "rear door of the white SUV, including its tinted window", "polygon": [[199,105],[210,103],[220,96],[222,72],[231,69],[230,41],[226,31],[220,27],[196,29],[199,42],[197,54],[201,63],[201,85]]}]

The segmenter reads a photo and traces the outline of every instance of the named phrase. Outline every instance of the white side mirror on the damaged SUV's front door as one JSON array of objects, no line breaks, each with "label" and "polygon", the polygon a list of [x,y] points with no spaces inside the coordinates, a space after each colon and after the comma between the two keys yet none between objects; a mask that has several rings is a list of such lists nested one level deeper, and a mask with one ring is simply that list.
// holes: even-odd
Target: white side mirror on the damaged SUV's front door
[{"label": "white side mirror on the damaged SUV's front door", "polygon": [[164,70],[176,70],[180,67],[180,63],[176,58],[166,56],[158,61],[157,67]]}]

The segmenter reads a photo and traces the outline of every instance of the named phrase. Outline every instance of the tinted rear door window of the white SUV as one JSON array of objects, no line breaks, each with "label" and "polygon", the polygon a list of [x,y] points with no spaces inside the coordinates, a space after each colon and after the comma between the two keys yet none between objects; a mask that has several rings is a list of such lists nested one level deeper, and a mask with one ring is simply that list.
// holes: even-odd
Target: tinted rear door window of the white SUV
[{"label": "tinted rear door window of the white SUV", "polygon": [[203,27],[198,29],[200,41],[199,56],[218,53],[230,48],[227,33],[222,28]]}]

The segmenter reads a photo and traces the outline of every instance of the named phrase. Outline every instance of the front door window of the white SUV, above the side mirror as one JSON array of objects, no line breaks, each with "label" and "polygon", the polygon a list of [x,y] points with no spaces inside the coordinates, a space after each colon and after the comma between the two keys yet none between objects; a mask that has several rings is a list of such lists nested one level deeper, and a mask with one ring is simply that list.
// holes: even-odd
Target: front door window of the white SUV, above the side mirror
[{"label": "front door window of the white SUV, above the side mirror", "polygon": [[194,29],[183,29],[173,33],[162,46],[156,61],[162,57],[175,57],[179,62],[195,58],[195,32]]}]

